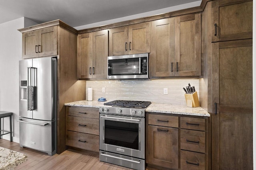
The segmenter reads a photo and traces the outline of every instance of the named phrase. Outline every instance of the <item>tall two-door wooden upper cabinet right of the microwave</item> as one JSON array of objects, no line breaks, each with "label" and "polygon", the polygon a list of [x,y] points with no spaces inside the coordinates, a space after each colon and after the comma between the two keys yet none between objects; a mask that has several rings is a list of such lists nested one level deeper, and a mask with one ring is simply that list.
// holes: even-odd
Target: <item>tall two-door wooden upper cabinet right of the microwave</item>
[{"label": "tall two-door wooden upper cabinet right of the microwave", "polygon": [[151,23],[150,77],[201,75],[201,14]]}]

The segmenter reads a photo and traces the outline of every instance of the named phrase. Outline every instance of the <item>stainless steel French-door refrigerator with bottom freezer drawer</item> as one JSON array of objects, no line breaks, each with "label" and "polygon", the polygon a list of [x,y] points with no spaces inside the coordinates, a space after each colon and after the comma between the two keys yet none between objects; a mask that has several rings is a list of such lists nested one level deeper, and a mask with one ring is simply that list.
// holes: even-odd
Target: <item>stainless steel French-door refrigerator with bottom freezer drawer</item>
[{"label": "stainless steel French-door refrigerator with bottom freezer drawer", "polygon": [[19,61],[20,147],[56,153],[57,60]]}]

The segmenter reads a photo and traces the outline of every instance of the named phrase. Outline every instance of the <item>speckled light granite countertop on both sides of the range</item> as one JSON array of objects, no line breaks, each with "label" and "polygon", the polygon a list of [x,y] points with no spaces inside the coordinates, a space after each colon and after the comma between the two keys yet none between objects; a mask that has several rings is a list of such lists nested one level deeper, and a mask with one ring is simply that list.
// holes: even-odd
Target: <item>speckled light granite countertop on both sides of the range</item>
[{"label": "speckled light granite countertop on both sides of the range", "polygon": [[[86,101],[81,100],[78,102],[66,103],[65,106],[80,106],[80,107],[96,107],[99,108],[104,106],[105,102],[98,101]],[[187,107],[181,105],[170,105],[170,104],[157,104],[152,103],[146,108],[147,112],[158,112],[168,114],[179,114],[179,115],[193,115],[193,116],[206,116],[210,117],[210,113],[205,111],[202,107]]]}]

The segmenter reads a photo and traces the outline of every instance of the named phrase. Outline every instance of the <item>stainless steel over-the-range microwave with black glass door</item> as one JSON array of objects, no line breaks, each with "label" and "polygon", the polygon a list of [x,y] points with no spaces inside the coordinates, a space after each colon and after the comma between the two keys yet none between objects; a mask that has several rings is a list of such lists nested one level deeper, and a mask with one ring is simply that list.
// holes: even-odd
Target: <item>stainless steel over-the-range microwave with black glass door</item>
[{"label": "stainless steel over-the-range microwave with black glass door", "polygon": [[108,57],[108,79],[148,78],[148,53]]}]

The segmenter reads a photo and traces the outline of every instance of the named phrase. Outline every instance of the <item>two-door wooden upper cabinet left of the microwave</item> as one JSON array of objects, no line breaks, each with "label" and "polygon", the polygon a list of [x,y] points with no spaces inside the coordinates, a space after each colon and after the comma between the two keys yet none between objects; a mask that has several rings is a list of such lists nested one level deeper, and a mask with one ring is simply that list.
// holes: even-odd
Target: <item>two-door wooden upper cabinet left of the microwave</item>
[{"label": "two-door wooden upper cabinet left of the microwave", "polygon": [[107,78],[108,30],[78,35],[78,79]]}]

